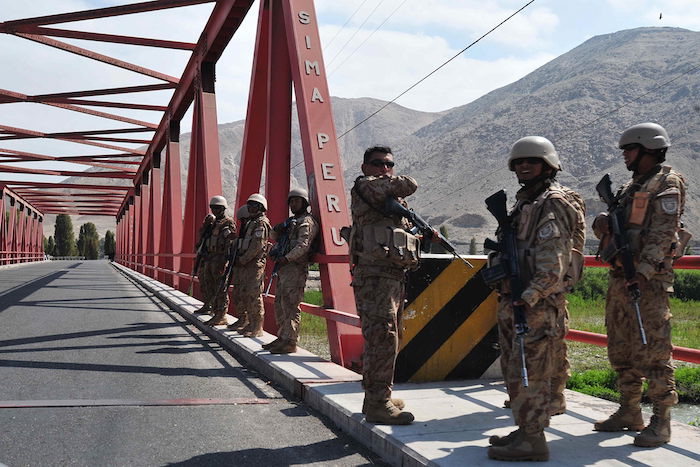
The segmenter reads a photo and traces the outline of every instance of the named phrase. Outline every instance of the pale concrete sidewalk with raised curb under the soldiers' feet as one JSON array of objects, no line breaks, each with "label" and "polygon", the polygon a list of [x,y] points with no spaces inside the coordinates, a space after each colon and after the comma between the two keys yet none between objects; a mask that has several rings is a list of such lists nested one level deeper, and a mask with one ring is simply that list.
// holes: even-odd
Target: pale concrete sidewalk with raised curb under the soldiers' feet
[{"label": "pale concrete sidewalk with raised curb under the soldiers' feet", "polygon": [[[488,437],[513,429],[510,410],[502,408],[507,396],[501,381],[397,384],[394,393],[406,400],[416,421],[395,427],[368,424],[360,413],[363,392],[357,373],[303,349],[290,355],[271,355],[261,348],[274,339],[270,334],[244,338],[223,326],[205,326],[202,321],[208,316],[192,314],[201,306],[199,300],[113,264],[236,358],[329,417],[392,465],[513,465],[486,456]],[[234,322],[233,317],[228,318]],[[655,449],[637,448],[632,445],[634,432],[592,431],[593,421],[614,412],[617,404],[569,390],[566,397],[567,413],[553,417],[546,431],[551,453],[547,465],[700,465],[700,428],[673,422],[671,443]]]}]

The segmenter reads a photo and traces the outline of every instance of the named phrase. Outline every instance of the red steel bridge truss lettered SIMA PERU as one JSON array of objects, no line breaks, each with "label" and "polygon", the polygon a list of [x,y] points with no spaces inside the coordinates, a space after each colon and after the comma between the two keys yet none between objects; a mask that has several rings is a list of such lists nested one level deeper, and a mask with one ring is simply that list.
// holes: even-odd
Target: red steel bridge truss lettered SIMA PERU
[{"label": "red steel bridge truss lettered SIMA PERU", "polygon": [[[79,21],[205,3],[212,4],[211,14],[196,42],[70,27]],[[128,70],[144,80],[143,84],[95,84],[93,89],[38,95],[0,89],[0,104],[32,103],[85,114],[100,122],[109,120],[113,125],[117,122],[116,128],[63,132],[0,124],[0,174],[18,175],[0,181],[0,213],[4,214],[0,219],[0,264],[43,259],[42,222],[46,214],[114,216],[116,261],[180,290],[188,289],[198,225],[208,212],[208,200],[221,194],[226,182],[221,177],[217,132],[216,65],[252,4],[253,0],[158,0],[0,23],[0,33]],[[57,24],[61,27],[54,26]],[[79,47],[66,39],[179,50],[189,53],[189,60],[181,75],[175,77]],[[11,68],[3,65],[3,73]],[[340,228],[349,225],[348,204],[313,0],[260,0],[233,206],[235,209],[250,194],[258,192],[264,180],[270,206],[268,216],[273,224],[286,218],[288,212],[292,89],[312,209],[322,227],[321,252],[316,261],[320,264],[324,305],[302,308],[326,319],[333,361],[352,366],[360,359],[362,339],[349,285],[347,245],[339,235]],[[169,101],[162,105],[120,99],[134,93],[143,96],[162,91],[171,93]],[[160,115],[160,120],[155,123],[125,117],[110,109],[146,111]],[[180,125],[189,109],[192,133],[183,187]],[[87,145],[97,153],[52,156],[4,147],[7,141],[36,138]],[[8,165],[18,162],[71,162],[90,170]],[[36,182],[26,178],[31,175],[92,178],[96,183]],[[588,258],[588,264],[599,265],[592,258]],[[697,268],[697,257],[690,259],[687,267]],[[269,273],[268,270],[268,277]],[[267,307],[272,306],[271,298],[266,298]],[[276,331],[273,316],[274,313],[266,313],[265,329],[270,332]],[[605,336],[587,334],[590,333],[572,337],[604,345]]]}]

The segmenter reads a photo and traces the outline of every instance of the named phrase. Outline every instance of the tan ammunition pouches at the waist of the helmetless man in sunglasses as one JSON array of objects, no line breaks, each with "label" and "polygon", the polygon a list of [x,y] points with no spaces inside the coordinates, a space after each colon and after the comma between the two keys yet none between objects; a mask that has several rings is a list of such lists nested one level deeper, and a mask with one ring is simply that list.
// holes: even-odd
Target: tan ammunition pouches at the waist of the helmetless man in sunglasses
[{"label": "tan ammunition pouches at the waist of the helmetless man in sunglasses", "polygon": [[370,224],[362,228],[361,256],[389,261],[395,266],[412,269],[420,260],[418,238],[393,223]]}]

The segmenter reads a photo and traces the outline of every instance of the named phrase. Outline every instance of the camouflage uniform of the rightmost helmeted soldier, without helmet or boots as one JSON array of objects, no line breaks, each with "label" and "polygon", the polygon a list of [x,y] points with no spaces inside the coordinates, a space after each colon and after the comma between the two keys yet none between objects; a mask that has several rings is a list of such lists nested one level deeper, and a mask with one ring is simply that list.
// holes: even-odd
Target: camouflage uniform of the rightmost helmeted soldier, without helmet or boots
[{"label": "camouflage uniform of the rightmost helmeted soldier, without helmet or boots", "polygon": [[[649,193],[641,223],[630,223],[634,193]],[[636,314],[630,303],[622,266],[610,269],[605,325],[608,357],[617,372],[623,399],[641,399],[642,378],[649,381],[649,398],[660,406],[678,402],[671,362],[671,310],[673,292],[673,246],[685,204],[685,181],[669,166],[657,166],[651,174],[638,175],[621,189],[629,244],[639,274],[647,279],[639,309],[647,336],[643,345]],[[596,232],[600,236],[600,232]],[[602,243],[605,242],[603,239]],[[682,253],[682,252],[680,252]]]}]

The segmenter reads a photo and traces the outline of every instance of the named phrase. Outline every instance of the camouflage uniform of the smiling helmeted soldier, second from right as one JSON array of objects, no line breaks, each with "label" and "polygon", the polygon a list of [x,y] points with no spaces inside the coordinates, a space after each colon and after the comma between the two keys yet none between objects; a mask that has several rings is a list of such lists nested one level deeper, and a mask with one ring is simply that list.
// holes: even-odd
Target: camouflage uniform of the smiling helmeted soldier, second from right
[{"label": "camouflage uniform of the smiling helmeted soldier, second from right", "polygon": [[522,386],[508,281],[499,285],[501,368],[516,425],[526,433],[539,433],[549,426],[552,386],[567,377],[563,342],[568,327],[565,294],[580,214],[556,181],[522,188],[516,199],[511,216],[521,258],[522,300],[530,306],[525,338],[529,386]]}]

